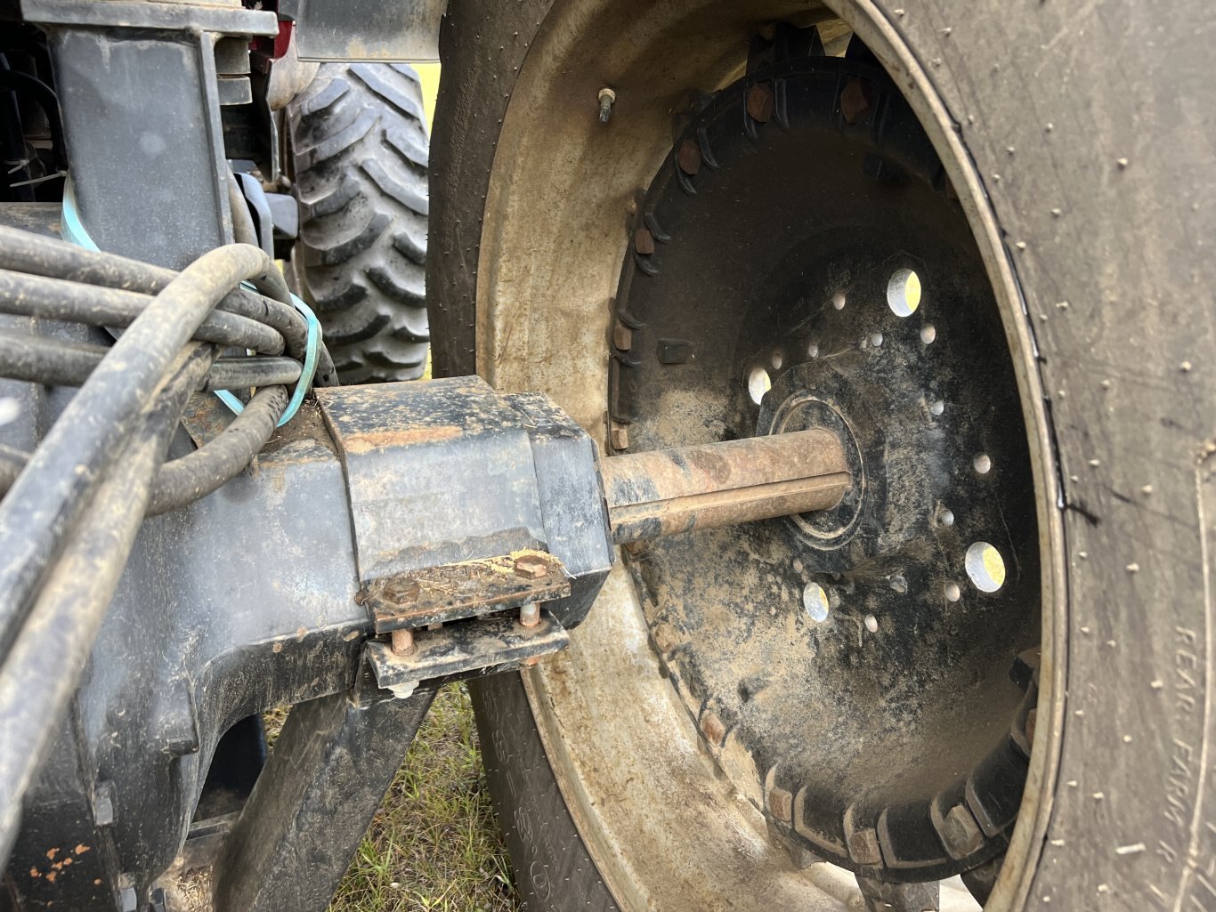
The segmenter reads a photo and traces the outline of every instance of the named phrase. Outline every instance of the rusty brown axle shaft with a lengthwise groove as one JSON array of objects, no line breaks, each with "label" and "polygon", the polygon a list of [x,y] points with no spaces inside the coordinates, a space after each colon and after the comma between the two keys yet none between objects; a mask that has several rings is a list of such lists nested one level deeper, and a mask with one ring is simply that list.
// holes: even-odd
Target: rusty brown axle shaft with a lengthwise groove
[{"label": "rusty brown axle shaft with a lengthwise groove", "polygon": [[618,545],[831,510],[852,484],[840,441],[822,428],[612,456],[599,473]]}]

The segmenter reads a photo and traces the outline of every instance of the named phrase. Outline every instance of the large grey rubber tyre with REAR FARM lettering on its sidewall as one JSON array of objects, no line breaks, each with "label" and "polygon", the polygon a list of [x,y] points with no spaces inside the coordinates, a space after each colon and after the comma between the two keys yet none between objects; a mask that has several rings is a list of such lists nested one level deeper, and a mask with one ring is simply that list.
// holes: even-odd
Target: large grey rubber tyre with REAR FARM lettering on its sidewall
[{"label": "large grey rubber tyre with REAR FARM lettering on its sidewall", "polygon": [[[475,367],[474,270],[495,124],[548,4],[455,6],[435,133],[438,148],[458,157],[432,229],[447,252],[432,264],[446,373]],[[1206,36],[1216,7],[878,9],[933,78],[975,163],[1051,396],[1069,687],[1052,823],[1024,907],[1216,908],[1216,181],[1206,178],[1216,173]],[[480,688],[523,698],[514,677]],[[480,726],[496,756],[535,756],[539,736],[518,716],[483,709]],[[500,817],[548,818],[558,845],[570,839],[546,767],[512,781],[516,792],[490,771]],[[508,831],[513,852],[520,841]],[[533,867],[558,863],[542,848],[516,856],[529,900]],[[568,905],[531,908],[609,907],[584,905],[581,885],[563,889]]]}]

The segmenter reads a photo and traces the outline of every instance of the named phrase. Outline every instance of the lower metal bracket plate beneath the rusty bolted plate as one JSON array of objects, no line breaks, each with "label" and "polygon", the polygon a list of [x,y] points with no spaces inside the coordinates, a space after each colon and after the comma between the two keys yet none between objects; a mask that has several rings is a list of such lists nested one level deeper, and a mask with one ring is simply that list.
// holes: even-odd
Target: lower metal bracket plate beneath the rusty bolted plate
[{"label": "lower metal bracket plate beneath the rusty bolted plate", "polygon": [[421,681],[451,681],[458,677],[510,671],[528,659],[565,649],[570,635],[548,612],[540,623],[525,627],[507,615],[482,618],[423,630],[413,635],[413,648],[396,655],[384,642],[367,643],[367,660],[377,683],[385,688],[412,688]]}]

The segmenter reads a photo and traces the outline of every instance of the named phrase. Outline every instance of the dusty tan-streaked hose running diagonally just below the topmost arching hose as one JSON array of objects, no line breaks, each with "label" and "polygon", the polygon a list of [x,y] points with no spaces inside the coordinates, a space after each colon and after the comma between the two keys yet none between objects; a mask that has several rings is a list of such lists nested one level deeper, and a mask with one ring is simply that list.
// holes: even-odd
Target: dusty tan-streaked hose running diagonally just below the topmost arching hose
[{"label": "dusty tan-streaked hose running diagonally just below the topmost arching hose", "polygon": [[[170,295],[170,303],[178,297],[182,295]],[[190,392],[215,354],[212,345],[191,349],[161,395],[128,422],[129,434],[116,447],[118,458],[66,536],[0,665],[0,744],[13,748],[0,750],[0,858],[12,850],[22,796],[80,683],[143,519],[152,473],[164,458]]]}]

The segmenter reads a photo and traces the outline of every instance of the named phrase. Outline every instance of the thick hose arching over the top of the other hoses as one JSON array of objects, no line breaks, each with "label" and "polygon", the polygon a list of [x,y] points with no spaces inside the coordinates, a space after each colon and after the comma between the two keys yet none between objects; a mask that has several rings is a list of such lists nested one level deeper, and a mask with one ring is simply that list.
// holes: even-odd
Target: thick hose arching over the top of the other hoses
[{"label": "thick hose arching over the top of the other hoses", "polygon": [[[5,240],[0,237],[0,242]],[[248,244],[204,253],[119,337],[51,426],[0,501],[0,554],[5,556],[0,565],[0,657],[12,647],[43,576],[97,479],[123,449],[181,349],[232,287],[274,271],[270,258]]]}]

